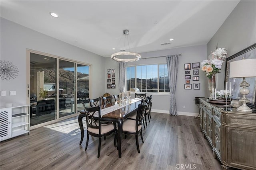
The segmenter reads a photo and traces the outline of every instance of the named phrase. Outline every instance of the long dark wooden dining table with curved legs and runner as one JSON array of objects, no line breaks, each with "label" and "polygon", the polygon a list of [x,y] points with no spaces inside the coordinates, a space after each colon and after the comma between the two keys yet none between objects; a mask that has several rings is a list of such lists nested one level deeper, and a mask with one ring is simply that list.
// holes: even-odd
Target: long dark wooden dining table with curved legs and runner
[{"label": "long dark wooden dining table with curved legs and runner", "polygon": [[[121,158],[122,127],[124,120],[131,115],[136,114],[141,100],[142,99],[135,98],[128,102],[120,103],[120,101],[117,101],[101,106],[101,121],[117,123],[117,149],[119,158]],[[80,114],[78,115],[78,123],[81,131],[81,140],[79,145],[82,144],[84,139],[83,117],[85,117],[85,112],[84,110],[81,110]]]}]

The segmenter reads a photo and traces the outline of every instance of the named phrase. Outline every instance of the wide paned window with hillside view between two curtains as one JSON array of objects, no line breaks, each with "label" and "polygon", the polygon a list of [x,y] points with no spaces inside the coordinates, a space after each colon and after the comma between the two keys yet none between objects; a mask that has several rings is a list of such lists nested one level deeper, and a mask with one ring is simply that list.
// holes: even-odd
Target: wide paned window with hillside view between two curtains
[{"label": "wide paned window with hillside view between two curtains", "polygon": [[170,92],[167,64],[126,67],[126,90],[140,92]]}]

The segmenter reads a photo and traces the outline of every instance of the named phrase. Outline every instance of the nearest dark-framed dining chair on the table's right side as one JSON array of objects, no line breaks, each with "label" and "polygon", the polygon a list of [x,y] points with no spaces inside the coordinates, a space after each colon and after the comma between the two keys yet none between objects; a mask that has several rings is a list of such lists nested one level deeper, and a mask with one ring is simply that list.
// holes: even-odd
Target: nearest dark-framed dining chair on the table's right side
[{"label": "nearest dark-framed dining chair on the table's right side", "polygon": [[[143,137],[142,137],[142,121],[143,121],[143,116],[144,116],[144,111],[146,109],[146,103],[143,102],[143,104],[139,104],[137,113],[136,113],[136,119],[130,119],[129,117],[124,121],[123,124],[123,129],[122,133],[125,135],[135,135],[136,139],[136,146],[137,146],[137,151],[140,153],[140,146],[139,146],[139,140],[138,140],[138,135],[140,134],[142,143]],[[115,137],[116,141],[116,137]]]}]

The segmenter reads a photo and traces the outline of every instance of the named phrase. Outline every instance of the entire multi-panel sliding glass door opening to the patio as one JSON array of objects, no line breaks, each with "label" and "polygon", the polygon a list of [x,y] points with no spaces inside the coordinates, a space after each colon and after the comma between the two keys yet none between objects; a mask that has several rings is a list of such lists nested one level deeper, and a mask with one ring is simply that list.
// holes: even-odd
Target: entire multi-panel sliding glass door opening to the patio
[{"label": "entire multi-panel sliding glass door opening to the patio", "polygon": [[89,65],[29,51],[30,126],[72,117],[88,106]]}]

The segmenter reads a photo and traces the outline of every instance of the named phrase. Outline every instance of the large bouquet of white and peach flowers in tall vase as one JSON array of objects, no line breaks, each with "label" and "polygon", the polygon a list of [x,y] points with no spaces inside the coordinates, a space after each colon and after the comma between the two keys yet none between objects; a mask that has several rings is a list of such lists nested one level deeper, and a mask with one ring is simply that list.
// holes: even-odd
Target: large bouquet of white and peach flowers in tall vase
[{"label": "large bouquet of white and peach flowers in tall vase", "polygon": [[202,61],[202,71],[209,79],[212,78],[212,75],[220,72],[222,63],[224,63],[227,54],[225,48],[217,48],[211,53],[208,60]]}]

